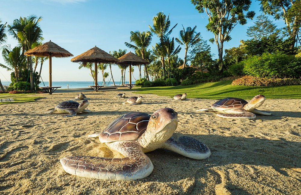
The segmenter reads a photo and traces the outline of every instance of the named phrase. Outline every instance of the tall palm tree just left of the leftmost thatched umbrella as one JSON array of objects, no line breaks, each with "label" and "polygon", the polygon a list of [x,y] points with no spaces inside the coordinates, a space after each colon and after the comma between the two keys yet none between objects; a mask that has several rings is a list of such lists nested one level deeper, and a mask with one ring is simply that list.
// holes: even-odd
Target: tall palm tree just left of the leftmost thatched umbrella
[{"label": "tall palm tree just left of the leftmost thatched umbrella", "polygon": [[[39,22],[42,17],[37,18],[36,16],[28,16],[27,18],[15,19],[13,26],[8,26],[9,31],[17,38],[21,45],[29,50],[35,42],[39,42],[42,38],[42,30],[39,27]],[[17,37],[16,37],[17,36]],[[33,66],[32,58],[27,58],[29,60],[29,70],[30,70],[30,90],[33,90],[34,79],[33,79]]]}]

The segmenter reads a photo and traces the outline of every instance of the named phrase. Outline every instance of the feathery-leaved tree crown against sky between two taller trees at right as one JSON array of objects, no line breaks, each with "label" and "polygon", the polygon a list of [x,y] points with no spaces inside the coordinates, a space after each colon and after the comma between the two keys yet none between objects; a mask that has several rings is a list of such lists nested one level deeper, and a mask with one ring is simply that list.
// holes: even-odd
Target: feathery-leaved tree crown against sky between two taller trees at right
[{"label": "feathery-leaved tree crown against sky between two taller trees at right", "polygon": [[268,37],[277,33],[276,25],[273,21],[269,20],[267,16],[261,14],[256,17],[255,25],[247,29],[247,36],[259,40],[262,37]]}]

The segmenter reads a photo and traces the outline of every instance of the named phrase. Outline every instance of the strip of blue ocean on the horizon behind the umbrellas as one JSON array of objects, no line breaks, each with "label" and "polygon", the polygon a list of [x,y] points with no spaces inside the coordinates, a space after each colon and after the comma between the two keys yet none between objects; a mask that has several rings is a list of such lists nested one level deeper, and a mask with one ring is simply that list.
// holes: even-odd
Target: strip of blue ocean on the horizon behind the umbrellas
[{"label": "strip of blue ocean on the horizon behind the umbrellas", "polygon": [[[11,82],[7,81],[1,81],[2,85],[9,85]],[[113,82],[110,83],[106,82],[107,86],[114,86]],[[120,85],[121,82],[117,81],[115,82],[115,85]],[[44,82],[45,86],[48,86],[48,81]],[[39,84],[40,87],[44,87],[43,82]],[[128,82],[126,82],[128,84]],[[135,81],[132,82],[132,84],[135,84]],[[74,89],[74,88],[88,88],[88,85],[93,85],[93,81],[52,81],[53,87],[61,87],[61,89]],[[98,85],[103,85],[101,81],[98,81]]]}]

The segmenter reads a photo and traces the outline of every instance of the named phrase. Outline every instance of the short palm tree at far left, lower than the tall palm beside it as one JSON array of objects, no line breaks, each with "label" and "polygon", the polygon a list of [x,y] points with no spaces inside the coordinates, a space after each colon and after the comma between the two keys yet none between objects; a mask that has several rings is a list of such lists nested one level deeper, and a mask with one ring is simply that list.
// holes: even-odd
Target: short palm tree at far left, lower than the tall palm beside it
[{"label": "short palm tree at far left, lower than the tall palm beside it", "polygon": [[26,58],[22,55],[21,46],[16,46],[12,50],[4,48],[2,56],[7,66],[1,63],[0,66],[7,70],[14,70],[16,81],[19,82],[19,70],[26,66]]}]

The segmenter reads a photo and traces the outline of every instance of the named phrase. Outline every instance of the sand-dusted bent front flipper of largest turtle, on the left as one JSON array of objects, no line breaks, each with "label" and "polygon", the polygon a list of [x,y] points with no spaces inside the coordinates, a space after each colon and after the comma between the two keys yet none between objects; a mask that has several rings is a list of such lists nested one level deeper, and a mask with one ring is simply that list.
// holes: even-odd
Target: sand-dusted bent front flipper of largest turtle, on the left
[{"label": "sand-dusted bent front flipper of largest turtle, on the left", "polygon": [[64,157],[61,164],[67,173],[103,180],[134,180],[147,177],[154,166],[135,142],[118,142],[116,149],[125,158],[100,158],[90,156]]}]

